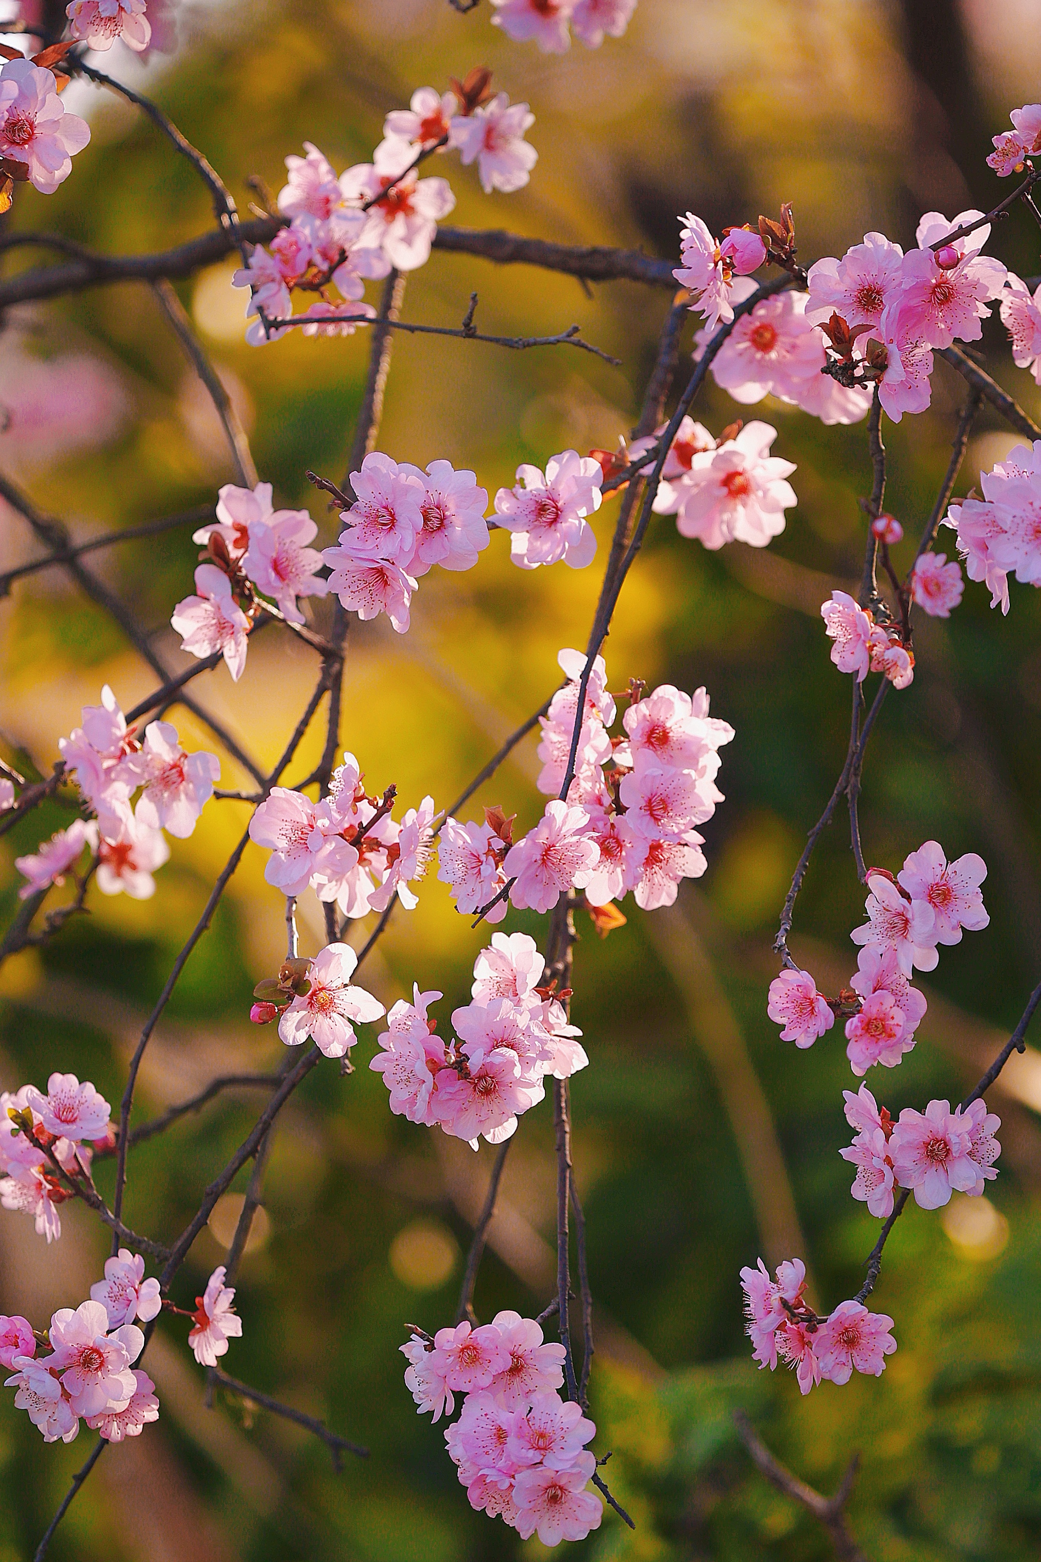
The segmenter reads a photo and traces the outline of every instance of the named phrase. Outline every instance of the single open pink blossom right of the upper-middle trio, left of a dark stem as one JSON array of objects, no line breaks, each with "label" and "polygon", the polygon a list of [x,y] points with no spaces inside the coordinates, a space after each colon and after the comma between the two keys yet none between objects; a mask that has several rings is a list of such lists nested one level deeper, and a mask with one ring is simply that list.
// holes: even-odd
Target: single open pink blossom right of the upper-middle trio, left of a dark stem
[{"label": "single open pink blossom right of the upper-middle trio, left of a dark stem", "polygon": [[574,570],[592,562],[597,539],[585,519],[600,508],[603,470],[591,456],[564,450],[546,472],[517,467],[517,483],[495,494],[499,525],[513,533],[510,556],[524,570],[563,559]]}]

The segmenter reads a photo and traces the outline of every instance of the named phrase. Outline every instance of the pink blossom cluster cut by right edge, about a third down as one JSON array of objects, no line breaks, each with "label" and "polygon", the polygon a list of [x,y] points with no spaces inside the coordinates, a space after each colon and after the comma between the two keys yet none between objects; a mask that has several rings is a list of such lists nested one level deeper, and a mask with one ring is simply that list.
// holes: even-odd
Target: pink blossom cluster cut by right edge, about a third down
[{"label": "pink blossom cluster cut by right edge, about a third down", "polygon": [[1016,445],[980,473],[983,498],[963,498],[944,520],[958,534],[969,580],[986,581],[991,608],[1008,612],[1008,576],[1041,586],[1041,439]]}]

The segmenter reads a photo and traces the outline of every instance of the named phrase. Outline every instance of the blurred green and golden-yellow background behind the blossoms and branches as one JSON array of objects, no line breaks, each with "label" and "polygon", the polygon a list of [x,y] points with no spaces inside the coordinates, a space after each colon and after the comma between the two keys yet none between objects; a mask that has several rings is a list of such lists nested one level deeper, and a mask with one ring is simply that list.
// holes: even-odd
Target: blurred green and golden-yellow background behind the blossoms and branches
[{"label": "blurred green and golden-yellow background behind the blossoms and branches", "polygon": [[[907,245],[930,208],[949,216],[986,208],[1005,192],[983,162],[989,136],[1007,128],[1010,108],[1038,97],[1041,80],[1036,0],[1000,8],[641,0],[625,39],[592,53],[575,44],[563,58],[511,44],[489,27],[486,3],[469,16],[447,0],[180,11],[180,55],[141,73],[117,50],[109,67],[147,81],[144,91],[208,153],[242,205],[247,177],[277,191],[283,156],[303,139],[338,169],[366,161],[385,111],[413,87],[444,87],[449,75],[489,64],[499,87],[530,102],[539,162],[525,191],[485,197],[475,170],[441,159],[435,172],[458,198],[452,220],[667,256],[677,251],[675,214],[686,209],[717,231],[792,200],[808,264],[841,255],[869,228]],[[55,197],[19,191],[14,226],[108,251],[161,248],[203,231],[205,191],[169,145],[127,105],[75,92],[70,106],[88,105],[94,141]],[[1041,269],[1025,216],[1002,225],[991,247],[1022,275]],[[261,476],[278,503],[308,505],[331,540],[334,522],[303,472],[342,478],[367,339],[294,336],[247,348],[230,270],[203,273],[181,297],[252,430]],[[405,314],[456,322],[470,289],[480,292],[485,331],[549,333],[578,322],[622,369],[567,348],[513,355],[399,337],[381,450],[474,467],[494,494],[519,461],[544,464],[569,445],[610,447],[631,426],[669,305],[664,289],[616,283],[586,297],[569,278],[435,253],[408,281]],[[147,287],[13,311],[0,345],[0,401],[22,405],[27,386],[42,386],[33,403],[42,411],[30,408],[0,434],[0,465],[78,537],[206,503],[230,480],[213,412]],[[1041,395],[1011,366],[997,323],[986,326],[983,347],[996,376],[1041,415]],[[63,362],[69,355],[75,366]],[[69,405],[55,411],[55,387],[70,383]],[[946,469],[963,398],[961,381],[938,362],[932,411],[886,430],[888,505],[910,534]],[[717,433],[739,412],[710,386],[699,415]],[[744,1406],[778,1456],[824,1492],[855,1451],[863,1454],[850,1520],[871,1557],[1033,1557],[1039,1053],[1016,1061],[993,1093],[1003,1153],[986,1201],[955,1195],[939,1215],[911,1206],[886,1250],[875,1306],[894,1315],[900,1348],[882,1379],[825,1384],[802,1400],[786,1371],[757,1373],[741,1332],[741,1264],[758,1253],[774,1262],[802,1253],[813,1296],[828,1309],[858,1287],[877,1232],[849,1196],[850,1172],[838,1156],[850,1137],[841,1092],[853,1084],[839,1029],[796,1053],[778,1043],[764,1012],[777,912],[846,747],[849,686],[828,662],[817,609],[832,586],[858,573],[866,434],[863,425],[824,428],[769,401],[750,415],[775,423],[774,453],[797,462],[799,508],[788,530],[767,553],[733,545],[708,555],[671,520],[656,520],[606,645],[613,689],[630,675],[705,684],[713,714],[738,736],[724,750],[727,801],[705,828],[710,868],[686,887],[680,912],[633,911],[606,942],[580,918],[574,1018],[591,1067],[574,1081],[574,1148],[597,1317],[596,1446],[614,1450],[611,1485],[638,1529],[630,1534],[608,1514],[578,1551],[599,1562],[830,1556],[824,1532],[752,1470],[730,1421]],[[985,412],[958,492],[1013,444]],[[602,555],[614,503],[597,519]],[[897,550],[902,567],[910,547]],[[5,509],[0,569],[30,556],[23,522]],[[177,665],[184,662],[167,620],[191,589],[194,561],[186,533],[94,558]],[[403,806],[428,790],[447,803],[555,687],[556,651],[585,644],[597,584],[596,565],[522,573],[497,534],[472,573],[424,580],[408,636],[352,622],[342,736],[370,789],[394,781]],[[936,837],[949,856],[974,850],[989,864],[989,928],[943,951],[916,1050],[899,1072],[875,1070],[869,1081],[894,1114],[963,1095],[1038,979],[1039,626],[1030,589],[1013,584],[1002,619],[985,589],[969,584],[949,625],[921,623],[914,684],[888,700],[872,744],[868,859],[896,870],[907,851]],[[0,603],[0,640],[3,753],[44,772],[102,683],[123,708],[153,687],[120,633],[59,572],[31,576]],[[313,676],[305,647],[269,634],[250,651],[239,686],[220,670],[194,687],[270,762]],[[191,717],[175,717],[189,747],[209,747]],[[292,773],[306,773],[319,750],[316,726]],[[236,765],[222,762],[224,784],[241,784]],[[502,803],[531,822],[541,808],[536,769],[528,739],[472,811]],[[172,843],[155,900],[94,895],[89,917],[3,965],[6,1087],[42,1084],[63,1068],[119,1100],[141,1020],[245,817],[241,804],[211,804],[195,834]],[[6,920],[19,883],[13,858],[67,818],[53,803],[3,840]],[[283,903],[263,867],[264,854],[250,848],[188,964],[147,1054],[142,1117],[214,1073],[281,1061],[274,1031],[245,1020],[253,982],[281,954]],[[861,900],[838,818],[814,858],[792,936],[796,956],[828,990],[855,968],[847,933],[861,920]],[[530,912],[513,912],[506,926],[542,931]],[[360,943],[366,934],[356,925],[352,936]],[[302,901],[302,939],[305,951],[324,942],[314,901]],[[436,1012],[447,1023],[466,1001],[483,942],[431,875],[419,909],[395,915],[366,981],[388,1004],[413,981],[442,989]],[[353,1075],[324,1065],[281,1117],[263,1218],[239,1276],[244,1337],[227,1357],[236,1376],[367,1443],[370,1459],[334,1476],[325,1450],[288,1423],[264,1414],[252,1421],[236,1403],[205,1409],[184,1326],[167,1320],[147,1359],[161,1420],[102,1460],[53,1545],[56,1559],[533,1562],[546,1554],[538,1540],[524,1543],[470,1512],[441,1426],[417,1418],[402,1384],[406,1325],[436,1329],[453,1317],[494,1151],[483,1145],[474,1156],[391,1117],[367,1068],[374,1039],[364,1032]],[[156,1236],[178,1231],[250,1122],[249,1100],[224,1098],[138,1150],[130,1223]],[[506,1162],[477,1287],[485,1318],[506,1306],[535,1314],[553,1295],[553,1175],[542,1106],[524,1118]],[[236,1212],[234,1195],[214,1212],[177,1282],[180,1304],[191,1306],[222,1262]],[[88,1293],[106,1253],[84,1211],[66,1206],[63,1217],[64,1236],[50,1250],[25,1217],[0,1218],[2,1306],[38,1326]],[[72,1448],[44,1448],[11,1393],[0,1396],[0,1562],[31,1554],[88,1448],[86,1434]]]}]

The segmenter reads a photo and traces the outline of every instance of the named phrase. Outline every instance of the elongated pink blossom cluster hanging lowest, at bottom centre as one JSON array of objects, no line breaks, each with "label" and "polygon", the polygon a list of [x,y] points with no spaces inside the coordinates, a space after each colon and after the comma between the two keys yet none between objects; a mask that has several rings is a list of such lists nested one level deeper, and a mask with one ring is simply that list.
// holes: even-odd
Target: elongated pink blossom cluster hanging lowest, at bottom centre
[{"label": "elongated pink blossom cluster hanging lowest, at bottom centre", "polygon": [[556,1392],[564,1346],[544,1343],[535,1318],[497,1312],[491,1323],[458,1323],[433,1339],[416,1331],[402,1353],[420,1415],[452,1415],[463,1396],[444,1440],[472,1507],[547,1546],[599,1528],[603,1504],[586,1490],[596,1459],[585,1446],[596,1426]]}]

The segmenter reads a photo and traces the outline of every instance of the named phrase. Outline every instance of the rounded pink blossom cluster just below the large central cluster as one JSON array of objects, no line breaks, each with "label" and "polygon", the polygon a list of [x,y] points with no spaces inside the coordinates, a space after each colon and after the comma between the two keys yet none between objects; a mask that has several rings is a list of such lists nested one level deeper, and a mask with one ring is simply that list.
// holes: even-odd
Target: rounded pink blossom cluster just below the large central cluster
[{"label": "rounded pink blossom cluster just below the large central cluster", "polygon": [[552,986],[539,986],[544,968],[527,933],[492,934],[474,965],[474,1001],[452,1014],[450,1042],[427,1014],[439,992],[416,987],[413,1003],[399,1000],[369,1064],[383,1075],[391,1111],[474,1150],[478,1137],[510,1139],[517,1117],[544,1098],[546,1075],[566,1079],[589,1062],[575,1040],[581,1031]]}]

